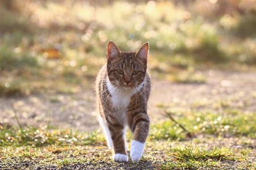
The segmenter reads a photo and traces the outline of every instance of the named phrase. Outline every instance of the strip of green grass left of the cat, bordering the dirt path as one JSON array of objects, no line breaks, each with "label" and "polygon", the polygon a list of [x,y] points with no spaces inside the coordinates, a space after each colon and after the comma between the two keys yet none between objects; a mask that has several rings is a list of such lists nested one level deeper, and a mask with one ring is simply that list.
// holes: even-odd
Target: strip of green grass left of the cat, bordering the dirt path
[{"label": "strip of green grass left of the cat, bordering the dirt path", "polygon": [[88,145],[102,141],[98,131],[93,133],[80,133],[72,129],[55,129],[27,127],[24,129],[2,127],[0,132],[0,146],[32,146],[41,147],[48,145]]}]

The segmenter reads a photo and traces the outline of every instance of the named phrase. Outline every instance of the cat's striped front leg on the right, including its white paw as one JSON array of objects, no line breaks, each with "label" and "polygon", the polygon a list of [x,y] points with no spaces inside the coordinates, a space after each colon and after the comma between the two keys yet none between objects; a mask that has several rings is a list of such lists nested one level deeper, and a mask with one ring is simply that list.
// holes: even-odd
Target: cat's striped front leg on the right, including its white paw
[{"label": "cat's striped front leg on the right, including its white paw", "polygon": [[133,161],[141,159],[149,129],[149,118],[147,113],[136,113],[129,125],[134,133],[131,141],[130,156]]}]

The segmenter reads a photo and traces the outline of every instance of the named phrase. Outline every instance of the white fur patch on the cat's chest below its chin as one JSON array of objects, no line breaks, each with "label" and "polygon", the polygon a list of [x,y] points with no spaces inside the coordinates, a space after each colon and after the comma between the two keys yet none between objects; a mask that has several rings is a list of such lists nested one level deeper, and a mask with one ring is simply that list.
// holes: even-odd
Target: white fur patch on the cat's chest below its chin
[{"label": "white fur patch on the cat's chest below its chin", "polygon": [[[110,81],[109,78],[107,78],[107,86],[108,86],[108,91],[110,93],[111,100],[113,103],[113,107],[116,109],[116,111],[118,112],[117,114],[118,117],[120,118],[120,120],[126,120],[125,118],[125,112],[126,112],[126,108],[130,103],[131,100],[131,96],[133,96],[135,93],[139,92],[139,90],[141,90],[141,88],[143,87],[144,82],[142,82],[141,84],[139,84],[139,86],[137,88],[132,88],[132,87],[115,87],[113,86]],[[126,121],[125,121],[126,122]]]}]

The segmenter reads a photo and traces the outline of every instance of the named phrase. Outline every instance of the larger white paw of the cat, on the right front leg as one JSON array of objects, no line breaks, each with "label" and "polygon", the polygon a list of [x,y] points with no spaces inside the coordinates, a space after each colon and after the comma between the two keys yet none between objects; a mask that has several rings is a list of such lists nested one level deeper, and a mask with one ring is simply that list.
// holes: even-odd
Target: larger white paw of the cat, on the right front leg
[{"label": "larger white paw of the cat, on the right front leg", "polygon": [[131,141],[131,151],[130,156],[133,161],[137,161],[141,159],[143,150],[144,150],[145,143],[141,143],[138,141]]}]

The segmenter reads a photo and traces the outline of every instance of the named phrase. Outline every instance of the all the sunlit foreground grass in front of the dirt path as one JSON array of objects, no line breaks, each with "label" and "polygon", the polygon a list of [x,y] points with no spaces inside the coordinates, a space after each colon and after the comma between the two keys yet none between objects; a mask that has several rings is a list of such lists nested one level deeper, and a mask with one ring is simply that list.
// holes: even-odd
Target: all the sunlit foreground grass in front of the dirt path
[{"label": "all the sunlit foreground grass in front of the dirt path", "polygon": [[[214,117],[213,113],[208,113],[208,116],[212,115]],[[183,118],[186,116],[188,120]],[[104,135],[99,130],[86,133],[48,126],[41,128],[0,126],[0,166],[8,169],[31,169],[35,168],[35,165],[39,169],[255,168],[256,164],[253,161],[255,130],[254,125],[250,124],[255,120],[247,120],[246,127],[243,124],[230,126],[230,129],[225,132],[222,131],[221,124],[213,126],[215,130],[214,128],[212,130],[206,129],[208,123],[203,123],[206,129],[203,131],[199,130],[203,125],[198,118],[191,121],[191,115],[187,113],[186,116],[181,116],[179,121],[193,133],[193,138],[188,138],[185,132],[171,120],[154,123],[151,126],[150,137],[147,139],[144,157],[140,162],[129,161],[128,163],[113,162],[110,156],[112,152],[106,147]],[[221,121],[220,118],[217,118],[217,121]],[[224,118],[226,126],[231,121],[233,120]],[[195,128],[196,124],[200,128]],[[235,131],[240,128],[240,131]],[[232,135],[232,138],[226,137],[226,134]],[[127,135],[131,137],[130,132]]]}]

